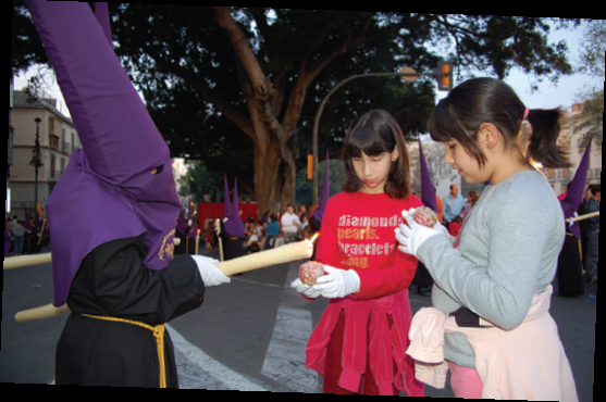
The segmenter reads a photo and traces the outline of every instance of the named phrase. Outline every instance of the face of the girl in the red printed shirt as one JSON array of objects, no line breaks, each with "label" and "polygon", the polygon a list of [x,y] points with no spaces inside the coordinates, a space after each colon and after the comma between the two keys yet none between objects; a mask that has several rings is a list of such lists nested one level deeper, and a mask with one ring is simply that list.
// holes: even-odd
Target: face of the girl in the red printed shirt
[{"label": "face of the girl in the red printed shirt", "polygon": [[385,192],[385,183],[389,176],[392,162],[397,158],[397,148],[393,152],[383,152],[372,156],[362,151],[360,156],[351,158],[356,176],[362,181],[360,191],[371,194]]}]

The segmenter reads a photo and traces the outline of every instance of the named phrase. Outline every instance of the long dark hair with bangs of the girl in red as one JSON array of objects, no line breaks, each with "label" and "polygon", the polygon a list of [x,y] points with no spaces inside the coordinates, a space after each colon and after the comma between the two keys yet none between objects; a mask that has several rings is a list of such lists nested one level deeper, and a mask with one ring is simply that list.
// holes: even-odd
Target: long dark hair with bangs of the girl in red
[{"label": "long dark hair with bangs of the girl in red", "polygon": [[392,162],[392,168],[385,183],[385,193],[391,198],[403,199],[410,194],[410,158],[406,148],[404,134],[396,120],[386,111],[375,109],[354,120],[345,136],[342,160],[345,164],[343,190],[358,191],[362,181],[356,175],[353,158],[363,153],[369,156],[398,150],[398,159]]}]

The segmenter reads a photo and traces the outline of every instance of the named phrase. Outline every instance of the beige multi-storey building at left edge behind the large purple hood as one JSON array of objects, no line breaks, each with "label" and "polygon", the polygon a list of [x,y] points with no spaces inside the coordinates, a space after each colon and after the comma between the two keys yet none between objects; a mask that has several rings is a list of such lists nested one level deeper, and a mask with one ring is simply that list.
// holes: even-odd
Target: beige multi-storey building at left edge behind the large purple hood
[{"label": "beige multi-storey building at left edge behind the large purple hood", "polygon": [[[41,162],[37,201],[42,210],[65,171],[72,152],[82,148],[72,120],[59,112],[55,102],[54,99],[36,99],[25,91],[13,92],[9,124],[9,130],[12,130],[12,166],[7,169],[11,215],[23,217],[24,205],[27,209],[37,206],[36,169],[33,163],[36,135],[39,138]],[[38,128],[36,118],[40,118]]]}]

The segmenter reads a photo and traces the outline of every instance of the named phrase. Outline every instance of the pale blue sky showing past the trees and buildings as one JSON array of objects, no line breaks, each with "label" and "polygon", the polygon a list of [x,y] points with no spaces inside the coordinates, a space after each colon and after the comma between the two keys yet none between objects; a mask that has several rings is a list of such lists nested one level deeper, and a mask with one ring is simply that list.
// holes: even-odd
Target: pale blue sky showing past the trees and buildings
[{"label": "pale blue sky showing past the trees and buildings", "polygon": [[[581,48],[581,41],[586,25],[583,24],[577,29],[566,29],[566,30],[553,30],[549,34],[551,42],[559,42],[565,39],[568,43],[569,49],[569,62],[574,66],[579,60],[579,49]],[[32,72],[29,72],[32,74]],[[20,77],[15,78],[15,89],[22,89],[27,80],[26,75],[22,74]],[[58,109],[65,115],[69,114],[69,110],[65,106],[61,90],[54,84],[51,85],[54,79],[52,76],[48,76],[47,81],[49,86],[46,88],[47,96],[55,98],[59,100]],[[522,102],[528,108],[531,109],[552,109],[561,106],[564,109],[569,109],[573,103],[579,102],[580,99],[578,95],[584,88],[584,86],[604,88],[604,77],[590,77],[582,74],[574,74],[571,76],[561,76],[558,84],[553,84],[552,81],[544,79],[543,83],[539,85],[539,90],[531,91],[531,85],[528,77],[518,70],[514,70],[510,76],[505,79],[509,84],[516,93],[520,97]],[[455,81],[455,85],[457,83]],[[447,92],[440,92],[437,99],[445,97]]]}]

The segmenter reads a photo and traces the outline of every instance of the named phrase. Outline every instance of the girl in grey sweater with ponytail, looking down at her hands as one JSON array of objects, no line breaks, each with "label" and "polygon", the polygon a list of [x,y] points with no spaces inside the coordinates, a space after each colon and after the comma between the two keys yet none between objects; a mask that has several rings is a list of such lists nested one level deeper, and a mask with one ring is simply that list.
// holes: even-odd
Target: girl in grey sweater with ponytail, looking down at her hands
[{"label": "girl in grey sweater with ponytail, looking down at her hands", "polygon": [[[481,317],[514,329],[527,317],[533,296],[551,289],[564,215],[534,163],[569,166],[556,146],[558,118],[558,110],[529,111],[509,86],[493,78],[462,83],[430,118],[432,138],[446,147],[445,162],[470,184],[490,181],[454,243],[438,225],[426,228],[412,219],[396,233],[400,250],[422,261],[434,278],[433,306],[455,315],[459,326],[475,326]],[[524,120],[530,135],[523,135]],[[444,357],[455,394],[480,398],[482,381],[468,338],[445,334]],[[535,364],[540,370],[541,359]],[[552,380],[557,388],[558,378]]]}]

